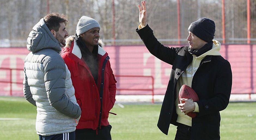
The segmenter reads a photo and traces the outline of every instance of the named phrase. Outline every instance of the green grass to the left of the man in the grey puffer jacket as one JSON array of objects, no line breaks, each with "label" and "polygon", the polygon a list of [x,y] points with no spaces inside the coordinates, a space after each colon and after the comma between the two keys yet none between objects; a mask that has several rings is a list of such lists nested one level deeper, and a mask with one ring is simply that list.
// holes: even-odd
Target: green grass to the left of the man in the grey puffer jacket
[{"label": "green grass to the left of the man in the grey puffer jacket", "polygon": [[20,118],[0,120],[0,139],[39,139],[36,135],[36,107],[21,97],[0,97],[0,118]]}]

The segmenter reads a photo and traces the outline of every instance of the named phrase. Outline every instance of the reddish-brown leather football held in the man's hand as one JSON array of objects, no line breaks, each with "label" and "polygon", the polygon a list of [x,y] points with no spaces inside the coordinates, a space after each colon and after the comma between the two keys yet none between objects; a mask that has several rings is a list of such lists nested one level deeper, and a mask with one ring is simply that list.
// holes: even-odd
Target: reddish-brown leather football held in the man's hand
[{"label": "reddish-brown leather football held in the man's hand", "polygon": [[[181,86],[181,89],[179,90],[179,98],[189,99],[193,102],[199,100],[196,92],[188,85]],[[184,103],[184,102],[185,101],[182,101],[182,103]],[[187,115],[194,118],[194,117],[196,117],[196,112],[189,112]]]}]

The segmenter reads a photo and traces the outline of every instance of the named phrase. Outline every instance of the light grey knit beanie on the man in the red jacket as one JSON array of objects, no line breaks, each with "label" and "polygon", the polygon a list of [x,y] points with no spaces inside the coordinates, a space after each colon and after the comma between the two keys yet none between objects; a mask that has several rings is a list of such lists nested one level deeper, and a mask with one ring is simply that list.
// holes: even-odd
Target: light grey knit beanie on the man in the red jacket
[{"label": "light grey knit beanie on the man in the red jacket", "polygon": [[100,24],[93,18],[82,16],[77,23],[77,35],[79,36],[92,28],[100,28]]}]

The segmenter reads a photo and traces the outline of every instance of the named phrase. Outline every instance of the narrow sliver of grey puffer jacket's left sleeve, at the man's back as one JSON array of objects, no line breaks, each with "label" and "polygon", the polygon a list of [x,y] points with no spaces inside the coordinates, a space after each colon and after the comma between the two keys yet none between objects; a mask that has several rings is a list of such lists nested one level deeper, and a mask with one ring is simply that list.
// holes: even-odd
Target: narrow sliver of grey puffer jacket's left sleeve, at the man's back
[{"label": "narrow sliver of grey puffer jacket's left sleeve, at the man's back", "polygon": [[25,99],[27,101],[29,101],[29,103],[36,106],[36,101],[32,98],[32,94],[31,94],[31,91],[30,91],[30,86],[28,85],[28,77],[26,75],[25,66],[24,66],[23,93],[24,93]]}]

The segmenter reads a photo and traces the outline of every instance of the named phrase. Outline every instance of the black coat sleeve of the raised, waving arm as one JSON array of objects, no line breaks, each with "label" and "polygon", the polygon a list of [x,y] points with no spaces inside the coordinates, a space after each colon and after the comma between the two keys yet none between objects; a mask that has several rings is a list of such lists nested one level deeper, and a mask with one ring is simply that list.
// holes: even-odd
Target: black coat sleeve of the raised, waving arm
[{"label": "black coat sleeve of the raised, waving arm", "polygon": [[161,44],[154,36],[153,30],[148,26],[148,24],[140,30],[137,28],[136,32],[139,34],[152,55],[156,56],[161,61],[169,63],[170,65],[173,64],[179,48],[168,47]]}]

